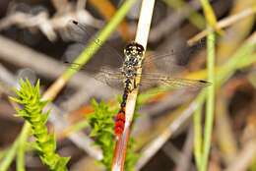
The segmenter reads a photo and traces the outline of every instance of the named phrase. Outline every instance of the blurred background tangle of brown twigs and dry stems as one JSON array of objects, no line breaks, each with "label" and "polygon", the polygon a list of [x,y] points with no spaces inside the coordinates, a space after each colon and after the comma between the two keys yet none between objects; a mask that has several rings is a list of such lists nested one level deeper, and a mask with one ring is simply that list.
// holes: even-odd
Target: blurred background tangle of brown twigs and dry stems
[{"label": "blurred background tangle of brown twigs and dry stems", "polygon": [[[218,21],[256,7],[255,0],[211,0]],[[70,67],[74,59],[107,24],[123,0],[1,0],[0,1],[0,149],[7,149],[20,134],[24,119],[14,117],[14,107],[8,95],[13,87],[28,77],[31,83],[40,80],[41,94]],[[52,101],[54,114],[47,127],[55,130],[57,152],[71,156],[68,168],[74,171],[104,170],[94,162],[99,150],[91,150],[90,129],[67,133],[67,128],[92,113],[90,101],[105,100],[115,105],[116,87],[98,82],[95,72],[102,66],[115,71],[123,60],[123,49],[134,39],[141,1],[132,7],[125,20],[108,38],[106,45],[76,74]],[[82,29],[72,28],[70,20],[78,21]],[[85,27],[85,28],[84,28]],[[207,80],[206,38],[194,37],[206,28],[206,19],[199,0],[157,0],[147,55],[163,56],[155,67],[179,78]],[[255,43],[255,12],[235,19],[217,34],[216,70],[232,65],[237,49],[248,41]],[[188,45],[189,42],[192,42]],[[255,49],[252,50],[255,53]],[[246,54],[245,49],[245,54]],[[221,170],[256,170],[256,63],[255,54],[241,60],[233,72],[217,88],[215,123],[212,135],[209,168]],[[164,55],[165,54],[165,55]],[[167,55],[166,55],[167,54]],[[167,56],[167,57],[166,57]],[[146,57],[147,59],[147,57]],[[90,70],[93,68],[94,70]],[[222,68],[223,67],[223,68]],[[154,67],[153,67],[154,68]],[[97,71],[95,71],[98,69]],[[121,87],[122,88],[122,87]],[[153,95],[140,106],[139,117],[132,135],[134,149],[141,151],[146,144],[169,130],[170,136],[136,168],[161,171],[197,170],[193,154],[193,101],[199,89],[180,89]],[[143,98],[142,98],[143,100]],[[204,106],[203,106],[204,108]],[[204,112],[203,112],[204,113]],[[185,116],[185,119],[181,116]],[[180,119],[181,118],[181,119]],[[203,117],[204,119],[204,117]],[[202,121],[203,121],[202,119]],[[255,119],[255,120],[254,120]],[[175,124],[174,127],[173,125]],[[173,126],[173,128],[171,127]],[[32,140],[30,140],[32,141]],[[146,148],[146,150],[150,150]],[[0,152],[0,161],[2,155]],[[139,159],[140,161],[140,159]],[[138,161],[138,163],[140,163]],[[28,171],[47,170],[34,151],[26,157]],[[11,170],[15,169],[15,162]]]}]

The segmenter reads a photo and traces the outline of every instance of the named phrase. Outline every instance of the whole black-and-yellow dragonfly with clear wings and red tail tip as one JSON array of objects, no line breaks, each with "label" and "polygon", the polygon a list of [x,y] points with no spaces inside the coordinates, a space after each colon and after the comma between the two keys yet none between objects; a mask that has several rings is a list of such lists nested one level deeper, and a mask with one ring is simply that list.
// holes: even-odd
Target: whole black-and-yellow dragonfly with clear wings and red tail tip
[{"label": "whole black-and-yellow dragonfly with clear wings and red tail tip", "polygon": [[[76,32],[77,37],[81,39],[81,35],[87,34],[90,35],[89,30],[83,24],[80,24],[76,21],[71,21],[69,24],[70,31],[72,33]],[[83,39],[83,38],[82,38]],[[94,41],[97,45],[99,45],[100,40]],[[100,43],[102,44],[102,43]],[[122,135],[125,126],[125,106],[127,102],[127,97],[130,92],[132,92],[135,88],[140,85],[140,89],[144,86],[149,85],[160,85],[161,87],[193,87],[193,88],[200,88],[206,85],[209,85],[208,82],[203,80],[189,80],[189,79],[180,79],[180,78],[173,78],[170,77],[169,74],[162,73],[162,72],[152,72],[151,68],[157,62],[162,62],[160,66],[164,66],[168,64],[172,59],[169,58],[169,54],[163,55],[153,55],[149,56],[144,60],[143,56],[145,55],[145,48],[143,45],[139,44],[138,42],[132,41],[126,45],[123,51],[123,55],[118,54],[114,49],[111,47],[105,47],[104,52],[109,52],[111,55],[115,55],[116,59],[121,59],[121,65],[117,69],[110,68],[109,66],[105,65],[101,68],[93,69],[93,77],[96,80],[117,88],[123,89],[122,101],[120,104],[120,109],[115,119],[115,127],[114,132],[116,139]],[[79,64],[72,63],[70,61],[66,61],[71,68],[78,69],[81,68]],[[150,66],[150,67],[149,67]],[[86,67],[85,69],[88,69]],[[169,67],[172,68],[172,67]],[[142,73],[138,71],[143,69]],[[136,82],[136,77],[141,77],[140,84]]]}]

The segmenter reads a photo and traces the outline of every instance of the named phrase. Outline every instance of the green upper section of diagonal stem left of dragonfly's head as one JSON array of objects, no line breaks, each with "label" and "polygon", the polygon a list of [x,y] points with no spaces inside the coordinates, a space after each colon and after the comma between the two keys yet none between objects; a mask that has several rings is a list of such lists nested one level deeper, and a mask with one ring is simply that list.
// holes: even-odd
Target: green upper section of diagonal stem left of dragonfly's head
[{"label": "green upper section of diagonal stem left of dragonfly's head", "polygon": [[114,31],[118,24],[126,16],[129,9],[136,2],[136,0],[126,0],[123,5],[118,9],[114,17],[108,22],[108,24],[96,35],[94,41],[92,41],[89,46],[79,55],[79,57],[74,61],[74,63],[79,64],[80,68],[77,70],[71,67],[64,73],[64,77],[69,80],[74,74],[76,74],[79,69],[85,65],[91,57],[96,53],[96,50],[106,41],[107,37]]}]

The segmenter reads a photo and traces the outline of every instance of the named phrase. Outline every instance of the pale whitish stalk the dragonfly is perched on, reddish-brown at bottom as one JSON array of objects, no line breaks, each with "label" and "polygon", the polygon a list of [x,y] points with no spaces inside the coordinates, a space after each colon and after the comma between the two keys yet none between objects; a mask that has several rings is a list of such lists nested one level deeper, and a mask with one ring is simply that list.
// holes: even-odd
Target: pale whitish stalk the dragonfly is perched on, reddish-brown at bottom
[{"label": "pale whitish stalk the dragonfly is perched on, reddish-brown at bottom", "polygon": [[[155,0],[143,0],[142,1],[142,8],[139,18],[139,23],[137,27],[136,32],[136,38],[135,41],[143,47],[147,48],[147,42],[151,27],[151,21],[153,16],[153,10],[155,6]],[[142,69],[138,71],[138,76],[140,76],[140,73],[142,72]],[[136,77],[136,83],[140,83],[140,77]],[[124,168],[124,161],[126,156],[126,149],[129,141],[130,136],[130,129],[131,124],[133,120],[133,114],[135,110],[135,104],[137,99],[139,88],[135,88],[131,93],[128,94],[127,102],[126,102],[126,122],[125,127],[122,135],[120,138],[116,141],[115,144],[115,151],[114,151],[114,157],[112,161],[112,171],[122,171]]]}]

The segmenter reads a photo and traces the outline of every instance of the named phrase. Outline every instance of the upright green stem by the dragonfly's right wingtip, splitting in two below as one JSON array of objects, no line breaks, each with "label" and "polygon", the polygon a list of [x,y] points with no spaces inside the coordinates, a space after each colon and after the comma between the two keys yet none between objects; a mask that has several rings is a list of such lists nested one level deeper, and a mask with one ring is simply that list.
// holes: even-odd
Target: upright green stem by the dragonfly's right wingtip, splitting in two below
[{"label": "upright green stem by the dragonfly's right wingtip, splitting in two below", "polygon": [[[208,2],[208,0],[200,0],[205,17],[208,22],[208,28],[216,27],[217,19],[214,11]],[[221,29],[217,29],[222,33]],[[213,85],[207,87],[207,91],[202,91],[198,98],[198,110],[194,115],[194,128],[195,128],[195,148],[194,154],[196,158],[196,164],[199,171],[206,171],[209,151],[211,147],[211,137],[214,123],[214,106],[215,106],[215,32],[211,32],[207,35],[207,74],[208,81]],[[201,113],[202,105],[204,103],[205,94],[207,95],[206,104],[206,119],[204,129],[204,139],[202,139],[202,125],[201,125]],[[203,140],[203,141],[202,141]]]}]

